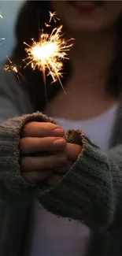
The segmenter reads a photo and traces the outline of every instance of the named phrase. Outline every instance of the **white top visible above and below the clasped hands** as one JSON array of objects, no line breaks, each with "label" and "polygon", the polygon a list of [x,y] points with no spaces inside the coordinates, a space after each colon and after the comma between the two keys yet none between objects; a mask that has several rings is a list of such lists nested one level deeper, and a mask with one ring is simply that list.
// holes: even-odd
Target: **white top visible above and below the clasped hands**
[{"label": "white top visible above and below the clasped hands", "polygon": [[[99,117],[87,121],[70,121],[58,119],[65,130],[80,129],[98,143],[103,150],[109,148],[109,139],[117,106],[109,109]],[[84,256],[87,254],[91,230],[84,224],[58,218],[35,202],[35,224],[31,256]]]}]

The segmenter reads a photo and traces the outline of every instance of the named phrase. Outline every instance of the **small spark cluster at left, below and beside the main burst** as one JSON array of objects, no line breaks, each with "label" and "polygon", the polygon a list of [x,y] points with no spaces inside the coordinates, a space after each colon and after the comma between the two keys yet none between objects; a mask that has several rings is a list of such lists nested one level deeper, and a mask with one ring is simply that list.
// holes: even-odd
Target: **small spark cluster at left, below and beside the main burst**
[{"label": "small spark cluster at left, below and beside the main burst", "polygon": [[[20,82],[19,75],[20,75],[20,76],[22,76],[22,75],[21,75],[21,73],[19,72],[17,65],[16,65],[16,64],[13,64],[13,62],[9,59],[8,56],[6,56],[6,57],[7,57],[7,59],[9,60],[9,65],[4,65],[3,70],[5,70],[6,72],[15,72],[15,73],[17,74],[17,78],[18,78],[18,80],[19,80],[19,82]],[[22,76],[22,77],[24,78],[24,76]]]}]

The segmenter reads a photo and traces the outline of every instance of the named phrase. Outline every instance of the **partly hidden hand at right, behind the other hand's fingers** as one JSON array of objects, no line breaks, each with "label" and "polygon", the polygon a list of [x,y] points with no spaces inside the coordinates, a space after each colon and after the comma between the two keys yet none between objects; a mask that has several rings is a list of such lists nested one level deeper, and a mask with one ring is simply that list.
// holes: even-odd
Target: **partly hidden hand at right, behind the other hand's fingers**
[{"label": "partly hidden hand at right, behind the other hand's fingers", "polygon": [[77,144],[72,144],[72,143],[67,143],[66,144],[65,152],[66,152],[66,156],[68,158],[68,161],[65,164],[65,166],[63,166],[61,168],[58,168],[56,170],[56,173],[54,173],[53,176],[50,176],[46,180],[46,186],[54,186],[55,184],[57,184],[61,180],[62,175],[65,174],[66,172],[68,172],[68,169],[77,160],[81,150],[82,150],[82,147],[77,145]]}]

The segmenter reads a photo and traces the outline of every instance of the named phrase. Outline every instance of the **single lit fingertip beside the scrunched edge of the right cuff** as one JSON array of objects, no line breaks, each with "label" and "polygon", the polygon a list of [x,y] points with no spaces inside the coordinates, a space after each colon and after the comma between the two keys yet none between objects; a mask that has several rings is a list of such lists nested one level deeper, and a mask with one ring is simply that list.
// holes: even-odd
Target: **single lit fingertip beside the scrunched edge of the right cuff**
[{"label": "single lit fingertip beside the scrunched edge of the right cuff", "polygon": [[67,143],[66,144],[66,155],[68,160],[70,161],[76,161],[80,152],[82,150],[82,147],[77,144]]}]

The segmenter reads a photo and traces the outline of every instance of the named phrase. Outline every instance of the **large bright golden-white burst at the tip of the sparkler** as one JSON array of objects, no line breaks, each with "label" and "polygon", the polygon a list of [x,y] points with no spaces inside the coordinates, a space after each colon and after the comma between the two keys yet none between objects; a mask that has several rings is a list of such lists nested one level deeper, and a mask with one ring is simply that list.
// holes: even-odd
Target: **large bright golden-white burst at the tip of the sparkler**
[{"label": "large bright golden-white burst at the tip of the sparkler", "polygon": [[[59,80],[61,83],[61,70],[63,69],[63,60],[68,59],[68,50],[70,50],[72,43],[69,43],[72,39],[63,39],[62,25],[58,28],[54,28],[51,34],[40,34],[39,42],[35,42],[31,39],[32,45],[28,43],[24,44],[28,46],[25,51],[28,57],[23,61],[26,63],[25,67],[31,65],[32,69],[38,68],[43,72],[43,79],[46,80],[47,75],[52,76],[53,81]],[[25,68],[24,67],[24,68]],[[62,86],[63,91],[65,91]]]}]

